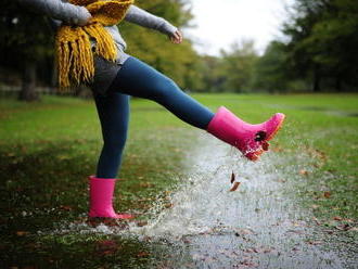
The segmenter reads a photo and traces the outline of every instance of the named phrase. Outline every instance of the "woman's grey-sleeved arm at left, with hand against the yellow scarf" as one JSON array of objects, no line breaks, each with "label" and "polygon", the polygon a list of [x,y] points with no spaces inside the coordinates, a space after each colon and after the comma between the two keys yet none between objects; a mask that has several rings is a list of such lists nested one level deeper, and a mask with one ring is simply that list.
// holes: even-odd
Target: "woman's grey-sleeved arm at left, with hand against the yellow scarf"
[{"label": "woman's grey-sleeved arm at left, with hand against the yellow scarf", "polygon": [[84,25],[91,14],[85,7],[78,7],[63,0],[18,0],[24,7],[69,25]]}]

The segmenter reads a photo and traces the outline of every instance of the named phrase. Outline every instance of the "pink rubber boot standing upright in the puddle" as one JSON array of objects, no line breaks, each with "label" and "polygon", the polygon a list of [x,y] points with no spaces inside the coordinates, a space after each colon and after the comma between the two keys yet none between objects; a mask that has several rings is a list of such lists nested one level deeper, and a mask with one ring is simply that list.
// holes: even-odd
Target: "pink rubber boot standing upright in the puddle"
[{"label": "pink rubber boot standing upright in the puddle", "polygon": [[130,219],[130,214],[116,214],[113,209],[113,193],[117,179],[102,179],[94,176],[90,180],[90,218]]}]

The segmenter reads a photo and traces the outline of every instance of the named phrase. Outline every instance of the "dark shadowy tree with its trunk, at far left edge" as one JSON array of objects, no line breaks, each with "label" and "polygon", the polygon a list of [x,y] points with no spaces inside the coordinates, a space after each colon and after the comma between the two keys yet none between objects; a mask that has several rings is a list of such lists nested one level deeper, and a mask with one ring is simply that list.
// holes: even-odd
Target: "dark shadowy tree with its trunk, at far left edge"
[{"label": "dark shadowy tree with its trunk, at far left edge", "polygon": [[52,30],[46,17],[24,9],[16,1],[0,3],[0,50],[2,63],[22,72],[18,99],[38,100],[36,92],[37,67],[44,65],[53,51]]}]

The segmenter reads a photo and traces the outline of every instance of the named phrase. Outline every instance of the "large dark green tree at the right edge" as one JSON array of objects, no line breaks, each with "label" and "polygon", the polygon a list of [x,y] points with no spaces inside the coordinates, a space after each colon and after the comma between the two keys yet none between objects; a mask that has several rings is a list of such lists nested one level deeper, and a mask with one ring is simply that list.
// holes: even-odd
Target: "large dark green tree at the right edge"
[{"label": "large dark green tree at the right edge", "polygon": [[314,91],[323,84],[335,90],[343,82],[358,86],[358,1],[297,0],[284,34],[291,69],[311,80]]}]

